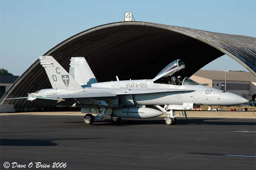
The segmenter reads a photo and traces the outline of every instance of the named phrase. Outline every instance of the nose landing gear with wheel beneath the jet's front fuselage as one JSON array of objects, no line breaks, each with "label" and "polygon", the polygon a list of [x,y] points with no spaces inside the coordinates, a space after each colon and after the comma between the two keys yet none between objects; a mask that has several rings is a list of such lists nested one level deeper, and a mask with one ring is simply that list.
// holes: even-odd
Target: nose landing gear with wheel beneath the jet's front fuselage
[{"label": "nose landing gear with wheel beneath the jet's front fuselage", "polygon": [[186,114],[186,111],[184,110],[184,114],[183,114],[183,110],[181,110],[180,114],[176,115],[175,116],[175,111],[174,110],[170,110],[169,112],[167,112],[167,110],[165,110],[166,108],[166,105],[163,107],[159,106],[159,105],[154,105],[156,106],[157,108],[159,108],[161,111],[163,111],[164,113],[167,113],[167,117],[164,118],[165,120],[165,123],[167,125],[175,125],[177,123],[177,119],[176,117],[179,116],[180,114],[182,114],[183,116],[185,115],[186,116],[186,119],[188,119],[187,117],[187,114]]}]

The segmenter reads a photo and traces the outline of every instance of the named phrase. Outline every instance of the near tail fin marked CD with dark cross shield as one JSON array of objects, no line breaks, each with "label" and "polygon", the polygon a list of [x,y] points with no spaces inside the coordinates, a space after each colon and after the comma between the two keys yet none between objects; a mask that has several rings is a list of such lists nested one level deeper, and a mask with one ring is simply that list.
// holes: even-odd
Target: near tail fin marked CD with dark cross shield
[{"label": "near tail fin marked CD with dark cross shield", "polygon": [[39,60],[47,73],[52,88],[83,90],[83,87],[81,87],[52,56],[39,56]]}]

